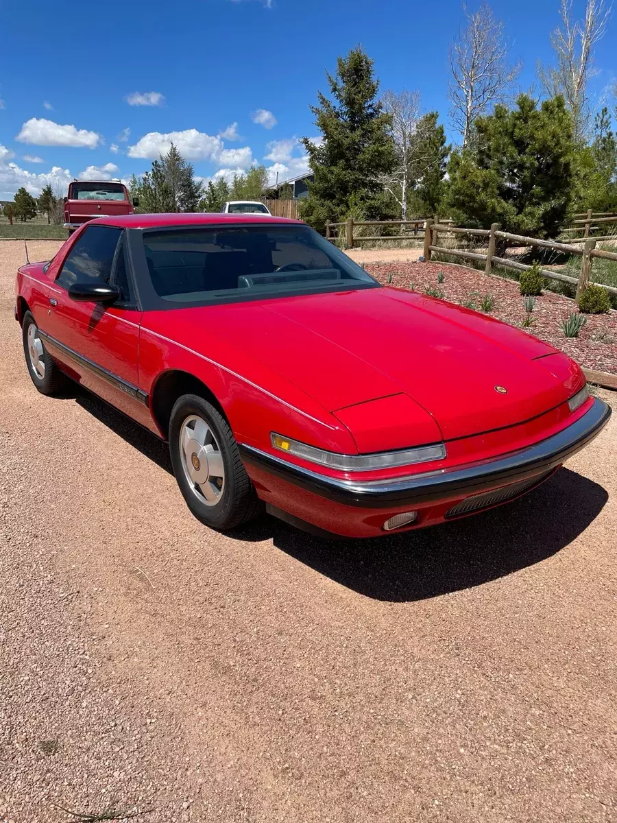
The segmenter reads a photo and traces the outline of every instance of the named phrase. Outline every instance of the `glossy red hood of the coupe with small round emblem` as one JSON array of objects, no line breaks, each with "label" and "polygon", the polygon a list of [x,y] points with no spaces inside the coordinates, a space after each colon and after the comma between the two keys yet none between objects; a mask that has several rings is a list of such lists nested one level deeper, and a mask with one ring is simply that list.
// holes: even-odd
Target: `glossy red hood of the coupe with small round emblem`
[{"label": "glossy red hood of the coupe with small round emblem", "polygon": [[528,420],[568,399],[581,380],[578,366],[525,332],[394,288],[188,310],[194,312],[204,313],[211,332],[216,317],[225,319],[221,336],[237,328],[251,358],[328,412],[405,393],[444,439]]}]

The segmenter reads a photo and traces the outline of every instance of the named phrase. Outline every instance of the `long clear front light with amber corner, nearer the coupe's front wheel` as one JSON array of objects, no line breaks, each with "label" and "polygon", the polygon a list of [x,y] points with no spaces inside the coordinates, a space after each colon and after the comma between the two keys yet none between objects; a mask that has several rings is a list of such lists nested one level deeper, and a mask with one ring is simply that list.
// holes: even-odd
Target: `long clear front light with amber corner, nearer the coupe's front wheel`
[{"label": "long clear front light with amber corner, nearer the coupe's front wheel", "polygon": [[296,458],[303,458],[310,463],[334,468],[339,472],[374,472],[376,469],[411,466],[413,463],[427,463],[429,460],[443,460],[446,447],[443,443],[433,446],[420,446],[419,449],[403,449],[397,452],[379,452],[376,454],[337,454],[325,449],[316,449],[289,437],[270,435],[275,449]]}]

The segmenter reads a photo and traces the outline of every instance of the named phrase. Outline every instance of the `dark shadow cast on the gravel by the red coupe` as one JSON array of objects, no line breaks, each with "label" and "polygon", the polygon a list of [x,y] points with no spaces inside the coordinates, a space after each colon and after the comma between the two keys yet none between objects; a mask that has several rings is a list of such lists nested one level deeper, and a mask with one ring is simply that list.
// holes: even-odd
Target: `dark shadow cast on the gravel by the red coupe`
[{"label": "dark shadow cast on the gravel by the red coupe", "polygon": [[[166,444],[90,393],[77,393],[76,401],[171,473]],[[327,541],[263,515],[231,537],[272,540],[295,560],[355,592],[408,602],[478,586],[546,560],[573,542],[607,500],[602,486],[563,468],[512,503],[432,528]]]}]

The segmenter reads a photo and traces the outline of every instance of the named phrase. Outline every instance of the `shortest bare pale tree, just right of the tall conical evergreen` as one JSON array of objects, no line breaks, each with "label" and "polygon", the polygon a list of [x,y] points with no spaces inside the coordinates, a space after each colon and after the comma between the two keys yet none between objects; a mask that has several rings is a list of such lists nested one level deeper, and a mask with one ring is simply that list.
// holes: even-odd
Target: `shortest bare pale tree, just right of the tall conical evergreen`
[{"label": "shortest bare pale tree, just right of the tall conical evergreen", "polygon": [[401,207],[401,220],[407,219],[407,193],[411,183],[416,133],[420,121],[420,91],[385,91],[383,110],[392,119],[392,139],[397,146],[397,166],[380,182]]}]

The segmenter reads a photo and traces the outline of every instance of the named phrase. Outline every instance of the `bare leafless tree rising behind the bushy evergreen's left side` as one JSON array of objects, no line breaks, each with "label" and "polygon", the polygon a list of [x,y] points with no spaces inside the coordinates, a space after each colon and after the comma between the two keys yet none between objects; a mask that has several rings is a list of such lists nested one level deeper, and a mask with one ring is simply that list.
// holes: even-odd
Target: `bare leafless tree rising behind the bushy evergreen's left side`
[{"label": "bare leafless tree rising behind the bushy evergreen's left side", "polygon": [[510,46],[503,21],[497,20],[488,2],[471,14],[463,6],[465,29],[458,30],[450,47],[452,79],[449,99],[452,123],[462,134],[463,146],[469,142],[471,124],[498,102],[521,71],[521,63],[508,60]]}]

